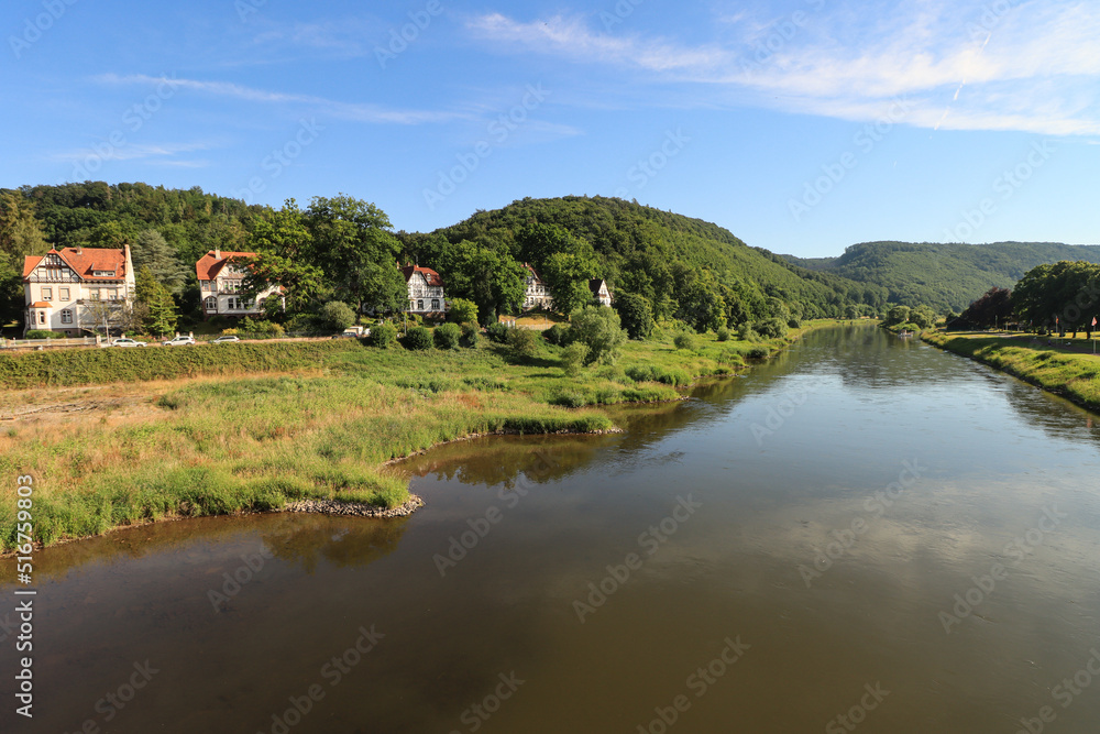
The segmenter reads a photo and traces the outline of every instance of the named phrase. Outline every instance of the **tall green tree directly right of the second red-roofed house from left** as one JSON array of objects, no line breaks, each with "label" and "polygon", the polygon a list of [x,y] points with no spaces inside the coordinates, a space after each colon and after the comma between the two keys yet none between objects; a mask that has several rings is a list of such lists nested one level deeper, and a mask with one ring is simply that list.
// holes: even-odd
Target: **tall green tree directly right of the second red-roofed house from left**
[{"label": "tall green tree directly right of the second red-roofed house from left", "polygon": [[321,269],[311,264],[311,238],[294,199],[282,209],[265,207],[249,237],[254,258],[232,259],[245,270],[241,287],[256,298],[271,286],[280,286],[290,310],[301,310],[324,288]]}]

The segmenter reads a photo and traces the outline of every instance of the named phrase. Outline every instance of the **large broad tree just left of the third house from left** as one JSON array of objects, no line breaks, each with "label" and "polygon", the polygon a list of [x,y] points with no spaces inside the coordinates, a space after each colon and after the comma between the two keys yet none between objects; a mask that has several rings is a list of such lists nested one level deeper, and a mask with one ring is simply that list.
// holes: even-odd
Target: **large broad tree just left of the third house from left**
[{"label": "large broad tree just left of the third house from left", "polygon": [[397,266],[402,244],[389,232],[389,217],[382,209],[344,194],[318,196],[306,220],[317,262],[337,292],[358,305],[358,315],[367,306],[402,310],[408,297]]}]

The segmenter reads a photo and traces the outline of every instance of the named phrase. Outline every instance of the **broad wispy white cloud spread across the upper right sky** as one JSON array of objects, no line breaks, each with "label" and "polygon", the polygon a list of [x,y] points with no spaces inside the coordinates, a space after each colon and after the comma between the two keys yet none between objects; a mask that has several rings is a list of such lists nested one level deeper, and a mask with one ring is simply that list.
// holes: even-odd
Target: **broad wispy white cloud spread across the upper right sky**
[{"label": "broad wispy white cloud spread across the upper right sky", "polygon": [[722,100],[862,121],[905,96],[913,109],[904,121],[919,127],[1100,134],[1100,13],[1091,3],[895,0],[877,15],[825,3],[802,10],[798,23],[719,13],[715,41],[702,45],[602,33],[583,17],[522,23],[493,13],[468,28],[525,53],[632,74],[636,88],[693,89],[698,106]]}]

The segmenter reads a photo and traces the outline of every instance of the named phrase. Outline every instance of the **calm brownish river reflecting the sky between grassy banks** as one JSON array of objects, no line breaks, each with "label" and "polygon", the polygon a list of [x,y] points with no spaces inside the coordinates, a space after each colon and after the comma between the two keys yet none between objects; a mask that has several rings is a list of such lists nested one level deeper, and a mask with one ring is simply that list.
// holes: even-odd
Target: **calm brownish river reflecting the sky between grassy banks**
[{"label": "calm brownish river reflecting the sky between grassy banks", "polygon": [[418,457],[403,521],[37,554],[35,717],[6,672],[3,731],[1100,728],[1091,414],[843,327],[615,417]]}]

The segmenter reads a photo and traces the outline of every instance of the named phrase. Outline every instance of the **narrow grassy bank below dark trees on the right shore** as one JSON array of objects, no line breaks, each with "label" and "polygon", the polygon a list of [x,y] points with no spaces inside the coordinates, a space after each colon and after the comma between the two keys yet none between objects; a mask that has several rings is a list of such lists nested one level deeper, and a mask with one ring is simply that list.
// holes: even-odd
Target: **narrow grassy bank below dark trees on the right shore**
[{"label": "narrow grassy bank below dark trees on the right shore", "polygon": [[988,332],[925,331],[921,338],[1100,410],[1100,355],[1082,353],[1077,346],[1048,344],[1047,338],[1031,335]]}]

